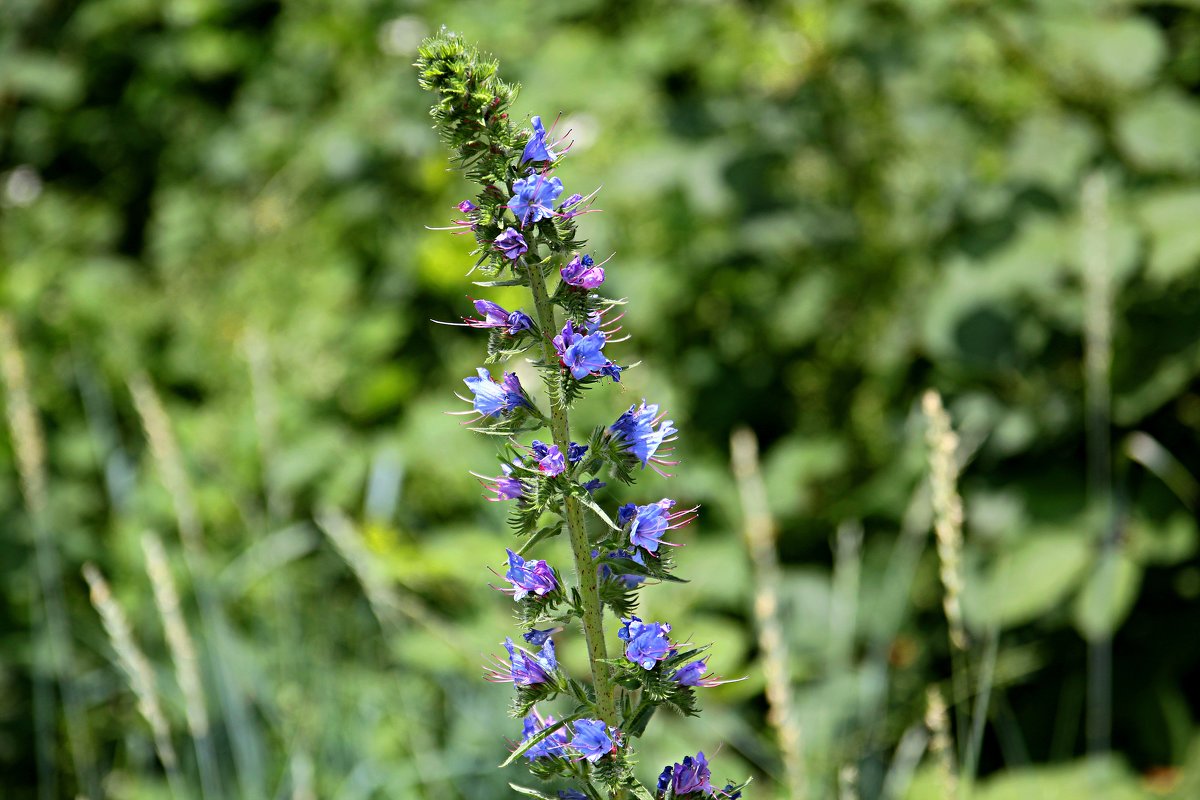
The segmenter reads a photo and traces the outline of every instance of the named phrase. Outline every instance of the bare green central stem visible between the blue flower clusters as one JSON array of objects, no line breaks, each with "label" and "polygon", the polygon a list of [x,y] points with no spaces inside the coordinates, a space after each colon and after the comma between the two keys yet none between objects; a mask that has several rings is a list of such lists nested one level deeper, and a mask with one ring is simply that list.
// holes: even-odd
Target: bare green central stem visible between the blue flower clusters
[{"label": "bare green central stem visible between the blue flower clusters", "polygon": [[[554,321],[554,307],[546,294],[546,279],[541,266],[524,263],[529,276],[529,289],[533,291],[534,307],[538,309],[538,326],[541,327],[541,350],[546,363],[558,361],[554,344],[551,341],[558,325]],[[566,415],[564,398],[550,397],[550,431],[554,445],[566,455],[570,445],[571,426]],[[566,506],[566,530],[571,540],[571,552],[575,555],[575,571],[580,579],[580,597],[583,606],[583,636],[588,643],[588,660],[592,662],[592,681],[596,692],[596,706],[600,718],[606,724],[617,724],[617,702],[612,686],[612,673],[608,669],[608,650],[604,638],[604,608],[600,604],[600,589],[596,581],[595,561],[592,560],[592,543],[583,525],[583,506],[574,497],[564,499]]]}]

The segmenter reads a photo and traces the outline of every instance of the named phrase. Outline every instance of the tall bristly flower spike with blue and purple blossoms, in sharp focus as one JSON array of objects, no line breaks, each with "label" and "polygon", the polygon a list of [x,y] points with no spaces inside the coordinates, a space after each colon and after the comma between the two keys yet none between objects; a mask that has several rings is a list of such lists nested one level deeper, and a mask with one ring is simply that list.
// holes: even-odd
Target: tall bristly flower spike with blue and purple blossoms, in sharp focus
[{"label": "tall bristly flower spike with blue and purple blossoms, in sharp focus", "polygon": [[[511,585],[502,590],[512,596],[529,648],[505,638],[508,657],[496,657],[487,672],[490,680],[514,685],[512,712],[523,720],[522,739],[505,765],[524,757],[538,777],[569,781],[571,788],[560,789],[558,798],[739,798],[744,783],[712,784],[703,752],[666,766],[653,790],[632,770],[634,740],[659,708],[695,715],[696,690],[726,681],[706,674],[707,645],[672,640],[668,622],[635,615],[646,585],[679,581],[668,554],[678,545],[662,537],[695,519],[696,509],[673,511],[676,501],[664,498],[628,503],[610,515],[602,495],[596,497],[607,486],[601,476],[632,485],[638,468],[647,467],[666,476],[664,469],[676,463],[670,461],[674,425],[658,405],[642,401],[612,425],[581,441],[571,439],[575,401],[592,386],[619,381],[626,368],[608,349],[624,341],[617,337],[619,314],[613,314],[624,300],[598,291],[605,269],[576,236],[576,219],[590,210],[594,193],[559,201],[563,181],[552,173],[569,144],[554,140],[553,126],[547,130],[539,116],[527,130],[509,119],[516,88],[500,80],[496,62],[442,32],[422,44],[416,67],[421,86],[436,97],[432,116],[456,166],[480,186],[475,198],[457,206],[464,218],[448,229],[474,236],[473,271],[485,278],[476,285],[524,287],[530,295],[532,313],[476,300],[479,317],[463,318],[463,324],[488,331],[488,363],[527,355],[546,389],[548,415],[516,373],[497,380],[480,367],[464,379],[472,397],[462,398],[472,404],[462,413],[472,415],[474,429],[503,438],[500,475],[479,477],[494,494],[490,500],[512,504],[512,528],[523,539],[516,551],[505,548],[503,577]],[[556,282],[553,291],[548,281]],[[518,439],[545,429],[548,441],[524,445]],[[589,534],[586,513],[599,533]],[[539,545],[563,534],[575,563],[574,585],[547,561],[532,558]],[[617,657],[608,652],[605,608],[620,624]],[[590,685],[568,675],[556,656],[553,637],[569,639],[576,620]],[[557,698],[569,700],[570,710],[556,720],[538,705]]]}]

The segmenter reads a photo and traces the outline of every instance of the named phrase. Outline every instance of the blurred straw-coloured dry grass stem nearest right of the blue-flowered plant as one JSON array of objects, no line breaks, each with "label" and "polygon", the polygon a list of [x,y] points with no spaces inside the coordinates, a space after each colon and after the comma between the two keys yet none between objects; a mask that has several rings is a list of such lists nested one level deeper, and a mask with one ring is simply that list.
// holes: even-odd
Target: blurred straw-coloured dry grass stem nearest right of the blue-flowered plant
[{"label": "blurred straw-coloured dry grass stem nearest right of the blue-flowered plant", "polygon": [[779,736],[787,775],[788,796],[806,795],[804,747],[799,720],[792,704],[792,676],[787,643],[779,619],[779,557],[775,553],[775,521],[767,505],[767,487],[758,465],[758,440],[742,428],[730,439],[733,476],[742,498],[743,535],[754,570],[755,622],[762,670],[767,682],[767,720]]}]

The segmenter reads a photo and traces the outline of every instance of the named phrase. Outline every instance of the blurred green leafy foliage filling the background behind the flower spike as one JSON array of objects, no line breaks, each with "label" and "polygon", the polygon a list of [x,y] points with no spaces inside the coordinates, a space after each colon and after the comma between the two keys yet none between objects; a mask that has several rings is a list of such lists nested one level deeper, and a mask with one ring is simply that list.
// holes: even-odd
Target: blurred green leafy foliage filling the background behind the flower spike
[{"label": "blurred green leafy foliage filling the background behind the flower spike", "polygon": [[[180,503],[138,375],[203,524],[199,557],[169,541],[215,721],[210,796],[504,796],[520,774],[493,768],[518,728],[479,680],[511,631],[486,587],[503,510],[467,475],[493,469],[493,447],[440,414],[482,343],[428,323],[469,309],[468,243],[425,230],[466,186],[408,66],[442,24],[502,58],[521,113],[563,114],[568,191],[604,187],[581,230],[616,252],[623,360],[642,366],[580,425],[664,403],[686,480],[642,491],[704,506],[680,554],[695,582],[648,594],[646,612],[750,680],[667,722],[646,777],[721,742],[715,777],[755,772],[754,796],[772,796],[781,776],[727,467],[749,426],[782,531],[811,794],[832,796],[844,765],[864,798],[902,788],[886,784],[902,777],[896,745],[920,730],[924,687],[949,688],[916,411],[936,386],[970,455],[968,627],[1000,637],[978,795],[1098,796],[1100,781],[1195,796],[1194,1],[8,0],[2,14],[0,302],[46,428],[65,680],[107,796],[169,795],[86,560],[156,666],[199,786],[138,545],[172,534]],[[1108,187],[1092,261],[1088,175]],[[1098,264],[1112,513],[1087,488]],[[0,437],[0,463],[12,449]],[[32,798],[35,684],[53,661],[29,516],[16,469],[2,475],[0,784]],[[865,533],[835,567],[846,521]],[[1109,632],[1116,754],[1088,770],[1073,763],[1086,637]],[[563,657],[584,662],[569,644]],[[58,783],[41,796],[74,796],[61,717],[43,733]],[[911,796],[940,790],[920,766]]]}]

